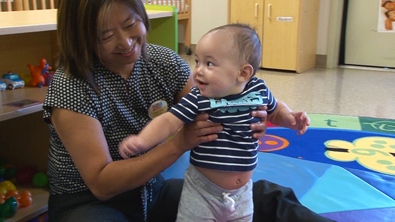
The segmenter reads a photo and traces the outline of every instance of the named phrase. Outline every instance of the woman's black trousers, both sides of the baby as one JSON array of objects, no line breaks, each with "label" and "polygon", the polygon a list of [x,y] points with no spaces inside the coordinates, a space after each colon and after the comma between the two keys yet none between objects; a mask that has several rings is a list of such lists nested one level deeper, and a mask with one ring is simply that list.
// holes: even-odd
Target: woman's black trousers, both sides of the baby
[{"label": "woman's black trousers, both sides of the baby", "polygon": [[[174,222],[177,217],[183,179],[163,181],[157,177],[153,201],[148,204],[148,222]],[[49,222],[142,222],[140,188],[100,201],[90,191],[50,195]],[[291,188],[266,180],[253,183],[253,222],[332,222],[297,199]]]}]

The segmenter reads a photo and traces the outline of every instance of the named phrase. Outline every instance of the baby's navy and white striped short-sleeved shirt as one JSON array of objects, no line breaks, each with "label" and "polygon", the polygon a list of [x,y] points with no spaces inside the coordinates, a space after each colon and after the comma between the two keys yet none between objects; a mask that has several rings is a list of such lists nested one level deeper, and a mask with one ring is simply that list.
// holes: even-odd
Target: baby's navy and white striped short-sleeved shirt
[{"label": "baby's navy and white striped short-sleeved shirt", "polygon": [[185,123],[191,123],[199,113],[209,114],[209,121],[221,122],[224,130],[218,139],[200,144],[191,151],[191,164],[215,170],[245,172],[257,165],[258,140],[252,138],[256,131],[251,123],[261,119],[251,116],[258,106],[268,106],[268,114],[276,110],[276,100],[257,77],[251,78],[243,92],[220,99],[203,97],[197,87],[174,105],[170,112]]}]

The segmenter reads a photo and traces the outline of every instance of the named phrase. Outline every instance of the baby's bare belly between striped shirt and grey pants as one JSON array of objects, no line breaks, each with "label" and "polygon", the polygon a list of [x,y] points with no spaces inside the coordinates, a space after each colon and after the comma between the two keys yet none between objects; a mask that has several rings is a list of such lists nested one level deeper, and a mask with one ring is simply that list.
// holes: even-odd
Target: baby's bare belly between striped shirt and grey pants
[{"label": "baby's bare belly between striped shirt and grey pants", "polygon": [[247,172],[230,172],[201,167],[196,167],[196,169],[208,180],[225,189],[237,189],[246,185],[254,172],[253,170]]}]

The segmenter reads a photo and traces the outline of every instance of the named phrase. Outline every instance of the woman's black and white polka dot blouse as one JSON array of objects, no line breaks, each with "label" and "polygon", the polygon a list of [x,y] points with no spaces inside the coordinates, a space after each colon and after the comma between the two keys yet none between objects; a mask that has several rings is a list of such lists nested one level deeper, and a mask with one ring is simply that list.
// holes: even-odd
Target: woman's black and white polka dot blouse
[{"label": "woman's black and white polka dot blouse", "polygon": [[66,76],[58,69],[44,101],[44,121],[50,128],[47,174],[50,194],[87,190],[79,171],[50,122],[51,107],[89,115],[100,121],[114,161],[122,159],[118,144],[130,134],[137,134],[151,118],[150,105],[164,100],[171,108],[176,95],[188,81],[190,68],[175,52],[162,46],[147,44],[149,58],[139,58],[126,81],[98,65],[94,80],[100,95],[87,80]]}]

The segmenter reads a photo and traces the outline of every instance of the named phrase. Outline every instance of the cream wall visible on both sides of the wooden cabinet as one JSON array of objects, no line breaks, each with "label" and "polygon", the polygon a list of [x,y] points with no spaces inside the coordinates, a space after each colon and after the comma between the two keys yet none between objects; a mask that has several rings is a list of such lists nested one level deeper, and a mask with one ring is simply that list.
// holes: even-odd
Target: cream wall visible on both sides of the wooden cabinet
[{"label": "cream wall visible on both sides of the wooden cabinet", "polygon": [[[329,18],[332,0],[319,1],[317,55],[327,55]],[[191,43],[197,41],[210,29],[228,22],[228,0],[192,0]],[[183,27],[179,28],[178,39],[184,42]]]}]

